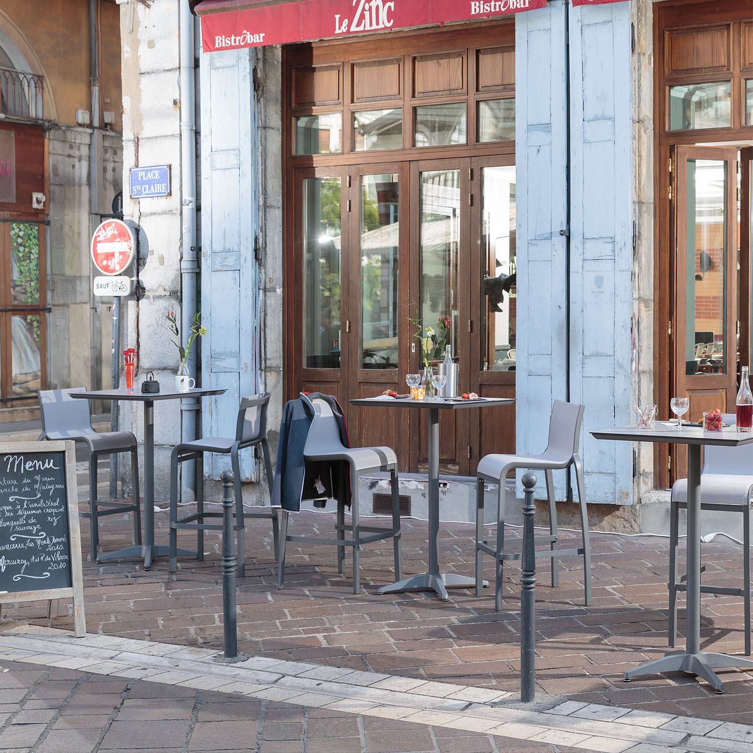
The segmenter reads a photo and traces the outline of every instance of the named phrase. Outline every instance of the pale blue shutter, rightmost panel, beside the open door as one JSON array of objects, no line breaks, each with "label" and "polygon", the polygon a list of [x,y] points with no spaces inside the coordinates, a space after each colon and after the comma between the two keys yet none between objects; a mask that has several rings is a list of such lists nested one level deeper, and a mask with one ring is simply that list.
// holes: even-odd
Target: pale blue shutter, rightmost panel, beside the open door
[{"label": "pale blue shutter, rightmost panel, beside the open door", "polygon": [[630,423],[633,163],[630,3],[570,11],[571,397],[584,403],[590,502],[630,504],[632,446],[590,431]]}]

